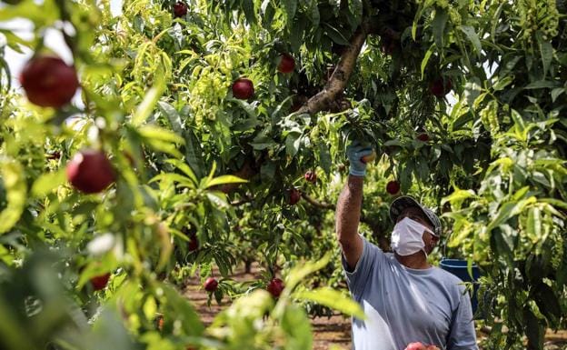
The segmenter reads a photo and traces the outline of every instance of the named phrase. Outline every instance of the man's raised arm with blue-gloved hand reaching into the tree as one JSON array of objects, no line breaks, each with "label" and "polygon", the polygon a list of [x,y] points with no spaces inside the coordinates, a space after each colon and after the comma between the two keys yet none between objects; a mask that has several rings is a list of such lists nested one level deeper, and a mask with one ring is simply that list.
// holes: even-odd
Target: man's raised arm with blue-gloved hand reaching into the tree
[{"label": "man's raised arm with blue-gloved hand reaching into the tree", "polygon": [[363,179],[366,174],[366,157],[373,154],[369,145],[353,142],[347,148],[350,162],[349,177],[339,196],[336,209],[336,233],[349,269],[353,269],[363,254],[363,240],[358,235],[363,205]]}]

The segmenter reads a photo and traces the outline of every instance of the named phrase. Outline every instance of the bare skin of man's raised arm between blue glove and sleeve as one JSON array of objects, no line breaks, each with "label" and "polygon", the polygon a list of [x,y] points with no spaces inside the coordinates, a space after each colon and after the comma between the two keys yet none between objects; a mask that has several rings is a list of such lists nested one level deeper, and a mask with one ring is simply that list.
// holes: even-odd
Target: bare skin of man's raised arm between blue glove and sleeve
[{"label": "bare skin of man's raised arm between blue glove and sleeve", "polygon": [[362,205],[363,177],[350,175],[339,195],[335,219],[337,238],[351,267],[356,265],[362,254],[363,245],[358,235]]}]

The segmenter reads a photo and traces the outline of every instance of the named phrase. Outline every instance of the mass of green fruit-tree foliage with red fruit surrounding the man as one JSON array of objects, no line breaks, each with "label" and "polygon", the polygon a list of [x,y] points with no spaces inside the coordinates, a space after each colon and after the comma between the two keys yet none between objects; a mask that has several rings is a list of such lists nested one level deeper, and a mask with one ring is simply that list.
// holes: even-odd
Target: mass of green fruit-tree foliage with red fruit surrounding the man
[{"label": "mass of green fruit-tree foliage with red fruit surrounding the man", "polygon": [[[15,18],[1,348],[310,349],[306,311],[361,316],[333,235],[353,138],[376,150],[363,231],[388,247],[396,195],[437,208],[433,259],[482,270],[485,345],[566,326],[564,0],[0,1]],[[232,301],[206,327],[195,274]]]}]

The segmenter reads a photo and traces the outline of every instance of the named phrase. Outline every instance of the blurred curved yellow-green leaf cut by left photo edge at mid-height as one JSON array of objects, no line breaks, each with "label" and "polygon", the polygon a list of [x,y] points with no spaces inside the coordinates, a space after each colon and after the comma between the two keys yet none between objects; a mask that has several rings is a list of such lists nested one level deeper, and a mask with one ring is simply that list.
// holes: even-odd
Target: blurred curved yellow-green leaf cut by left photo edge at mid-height
[{"label": "blurred curved yellow-green leaf cut by left photo edge at mid-height", "polygon": [[27,186],[24,168],[14,160],[0,159],[0,175],[7,200],[5,209],[0,213],[0,234],[4,234],[17,223],[24,212]]}]

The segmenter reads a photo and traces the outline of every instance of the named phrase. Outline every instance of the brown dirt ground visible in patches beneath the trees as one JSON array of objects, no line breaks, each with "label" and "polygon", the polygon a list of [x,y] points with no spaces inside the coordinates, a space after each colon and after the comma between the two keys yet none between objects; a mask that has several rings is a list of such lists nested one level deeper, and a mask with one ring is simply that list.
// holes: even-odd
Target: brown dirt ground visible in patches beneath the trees
[{"label": "brown dirt ground visible in patches beneath the trees", "polygon": [[[235,281],[251,281],[260,278],[257,266],[253,266],[251,274],[245,274],[244,268],[239,269],[233,275]],[[213,322],[214,316],[229,305],[229,300],[225,297],[221,305],[215,301],[211,306],[207,306],[207,293],[204,291],[198,278],[187,281],[184,295],[191,300],[201,315],[205,325]],[[339,345],[344,350],[351,347],[351,322],[350,318],[343,315],[334,315],[331,318],[317,317],[311,321],[313,327],[313,350],[327,350],[331,345]],[[479,339],[486,337],[486,334],[478,332]],[[545,350],[567,350],[567,330],[553,332],[548,330],[545,336]]]}]

